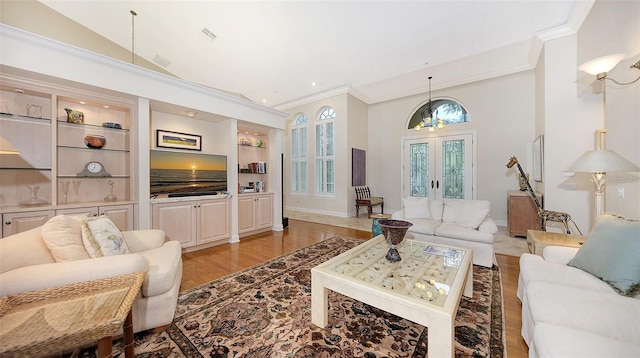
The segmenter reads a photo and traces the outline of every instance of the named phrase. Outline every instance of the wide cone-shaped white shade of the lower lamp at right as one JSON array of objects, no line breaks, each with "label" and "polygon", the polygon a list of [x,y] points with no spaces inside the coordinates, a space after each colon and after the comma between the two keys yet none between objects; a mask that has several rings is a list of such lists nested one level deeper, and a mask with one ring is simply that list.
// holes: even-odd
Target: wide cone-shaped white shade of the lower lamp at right
[{"label": "wide cone-shaped white shade of the lower lamp at right", "polygon": [[613,150],[590,150],[580,156],[565,172],[608,173],[640,172],[640,167],[624,159]]}]

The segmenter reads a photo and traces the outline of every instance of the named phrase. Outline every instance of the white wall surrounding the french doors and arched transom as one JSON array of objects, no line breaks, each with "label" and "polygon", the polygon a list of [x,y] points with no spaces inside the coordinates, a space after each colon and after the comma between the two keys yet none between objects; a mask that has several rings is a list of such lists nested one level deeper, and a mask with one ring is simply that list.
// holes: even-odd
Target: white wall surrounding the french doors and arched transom
[{"label": "white wall surrounding the french doors and arched transom", "polygon": [[[491,201],[491,215],[503,225],[507,218],[507,191],[518,188],[516,169],[506,168],[509,158],[517,156],[525,172],[531,173],[534,78],[533,71],[525,71],[432,93],[434,99],[455,99],[469,112],[470,123],[450,125],[436,130],[436,134],[476,131],[476,197]],[[427,99],[425,93],[369,106],[369,158],[375,158],[368,161],[369,172],[373,173],[370,182],[373,190],[384,196],[389,212],[400,210],[402,203],[401,138],[433,134],[406,129],[411,115]]]}]

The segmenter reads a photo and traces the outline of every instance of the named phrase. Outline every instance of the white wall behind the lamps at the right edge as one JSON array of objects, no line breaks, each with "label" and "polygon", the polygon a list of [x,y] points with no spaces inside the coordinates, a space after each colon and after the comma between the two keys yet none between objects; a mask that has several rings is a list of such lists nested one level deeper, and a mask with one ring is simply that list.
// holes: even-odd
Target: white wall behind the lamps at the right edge
[{"label": "white wall behind the lamps at the right edge", "polygon": [[[580,63],[596,57],[625,53],[627,58],[609,73],[611,78],[631,81],[640,71],[629,65],[640,58],[640,3],[598,1],[576,35],[545,43],[544,56],[538,64],[543,73],[545,134],[545,207],[568,212],[584,234],[595,219],[595,186],[591,175],[576,173],[562,176],[562,171],[580,155],[595,148],[595,131],[603,128],[603,95],[583,83],[595,76],[577,70]],[[540,66],[544,66],[543,69]],[[636,83],[617,86],[607,82],[607,148],[628,160],[640,163],[640,89]],[[640,218],[638,173],[609,173],[606,210],[631,218]],[[576,190],[566,190],[575,184]],[[617,190],[625,198],[617,198]]]}]

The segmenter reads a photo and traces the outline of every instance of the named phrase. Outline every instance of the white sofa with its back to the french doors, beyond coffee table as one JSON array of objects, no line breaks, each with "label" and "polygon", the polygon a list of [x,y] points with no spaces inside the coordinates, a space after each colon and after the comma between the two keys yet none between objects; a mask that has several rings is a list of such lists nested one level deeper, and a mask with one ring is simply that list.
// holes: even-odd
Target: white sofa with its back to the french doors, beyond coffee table
[{"label": "white sofa with its back to the french doors, beyond coffee table", "polygon": [[490,217],[490,208],[487,200],[407,198],[391,218],[413,224],[407,230],[408,239],[471,249],[475,265],[491,267],[498,226]]}]

